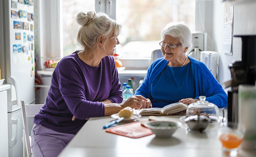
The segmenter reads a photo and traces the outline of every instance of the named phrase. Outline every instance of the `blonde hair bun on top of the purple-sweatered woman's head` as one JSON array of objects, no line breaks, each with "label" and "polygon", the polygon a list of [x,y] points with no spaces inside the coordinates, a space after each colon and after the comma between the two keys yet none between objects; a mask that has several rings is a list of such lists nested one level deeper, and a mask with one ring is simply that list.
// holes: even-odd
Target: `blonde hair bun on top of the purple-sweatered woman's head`
[{"label": "blonde hair bun on top of the purple-sweatered woman's head", "polygon": [[86,14],[84,12],[80,12],[76,16],[76,22],[79,25],[87,25],[94,19],[95,16],[95,11],[88,11]]}]

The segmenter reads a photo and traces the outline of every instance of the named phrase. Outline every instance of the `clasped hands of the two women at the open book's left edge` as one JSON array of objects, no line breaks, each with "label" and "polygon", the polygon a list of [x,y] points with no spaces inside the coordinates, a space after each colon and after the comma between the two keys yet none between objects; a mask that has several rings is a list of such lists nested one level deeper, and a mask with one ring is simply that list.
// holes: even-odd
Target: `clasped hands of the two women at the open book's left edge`
[{"label": "clasped hands of the two women at the open book's left edge", "polygon": [[[122,106],[122,108],[131,107],[134,109],[140,109],[141,107],[143,107],[143,101],[145,101],[144,106],[147,107],[147,105],[149,105],[149,104],[147,104],[148,100],[146,98],[144,98],[141,95],[133,95],[130,98],[128,98],[128,100],[125,101],[123,104],[121,104],[121,106]],[[151,102],[150,102],[150,104],[151,104]]]}]

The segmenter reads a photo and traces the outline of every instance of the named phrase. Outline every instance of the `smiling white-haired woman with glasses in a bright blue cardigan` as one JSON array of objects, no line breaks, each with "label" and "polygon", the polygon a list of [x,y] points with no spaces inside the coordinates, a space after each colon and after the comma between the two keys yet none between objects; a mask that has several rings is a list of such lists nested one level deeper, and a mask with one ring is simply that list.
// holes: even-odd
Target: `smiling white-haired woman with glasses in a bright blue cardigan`
[{"label": "smiling white-haired woman with glasses in a bright blue cardigan", "polygon": [[191,104],[198,101],[200,95],[205,95],[207,101],[219,108],[227,106],[227,94],[206,65],[186,56],[191,46],[191,32],[186,24],[167,24],[160,46],[163,58],[151,64],[135,95],[149,98],[152,107],[175,102]]}]

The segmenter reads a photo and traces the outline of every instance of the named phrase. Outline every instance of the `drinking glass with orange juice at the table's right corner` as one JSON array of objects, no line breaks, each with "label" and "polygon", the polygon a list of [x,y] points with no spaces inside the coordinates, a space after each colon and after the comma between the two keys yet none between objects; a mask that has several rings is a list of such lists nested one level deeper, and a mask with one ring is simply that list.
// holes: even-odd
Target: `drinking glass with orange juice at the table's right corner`
[{"label": "drinking glass with orange juice at the table's right corner", "polygon": [[243,141],[245,126],[241,123],[223,123],[218,130],[218,139],[226,156],[236,156]]}]

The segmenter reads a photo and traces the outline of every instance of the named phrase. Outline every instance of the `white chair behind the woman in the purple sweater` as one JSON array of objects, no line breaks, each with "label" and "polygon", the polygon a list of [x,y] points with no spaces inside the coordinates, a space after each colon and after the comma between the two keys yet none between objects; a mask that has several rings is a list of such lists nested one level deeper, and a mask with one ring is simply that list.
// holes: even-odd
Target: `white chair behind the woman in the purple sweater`
[{"label": "white chair behind the woman in the purple sweater", "polygon": [[[23,120],[23,156],[32,157],[31,151],[31,137],[29,136],[29,128],[27,123],[27,117],[34,117],[38,112],[40,107],[44,104],[26,104],[24,100],[21,100],[21,111]],[[24,140],[25,139],[25,140]]]}]

